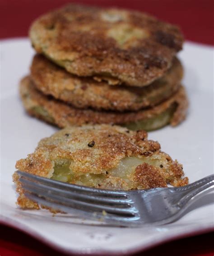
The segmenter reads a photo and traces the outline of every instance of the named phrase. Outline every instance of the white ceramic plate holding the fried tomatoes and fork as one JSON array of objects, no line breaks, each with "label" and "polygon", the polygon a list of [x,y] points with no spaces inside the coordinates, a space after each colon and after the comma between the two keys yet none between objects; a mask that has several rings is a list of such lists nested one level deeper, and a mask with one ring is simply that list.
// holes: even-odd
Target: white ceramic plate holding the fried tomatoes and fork
[{"label": "white ceramic plate holding the fried tomatoes and fork", "polygon": [[[25,158],[40,139],[57,130],[25,114],[19,98],[19,80],[28,73],[33,53],[28,39],[1,41],[1,222],[61,251],[108,255],[140,251],[214,229],[213,194],[197,201],[175,223],[141,228],[112,228],[70,215],[53,217],[45,210],[18,209],[11,178],[16,160]],[[190,182],[213,173],[213,53],[212,47],[185,44],[179,55],[190,98],[188,118],[176,128],[149,133],[163,151],[183,163]]]}]

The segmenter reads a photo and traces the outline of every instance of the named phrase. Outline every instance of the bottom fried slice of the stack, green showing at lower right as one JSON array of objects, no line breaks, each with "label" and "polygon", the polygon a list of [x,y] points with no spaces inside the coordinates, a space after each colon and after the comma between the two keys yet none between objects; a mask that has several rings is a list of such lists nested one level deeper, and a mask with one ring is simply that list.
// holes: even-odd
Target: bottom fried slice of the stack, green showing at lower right
[{"label": "bottom fried slice of the stack, green showing at lower right", "polygon": [[[79,126],[83,124],[121,124],[139,130],[142,124],[146,130],[155,130],[169,122],[178,125],[185,119],[188,101],[186,92],[180,87],[178,92],[161,104],[137,112],[96,111],[92,109],[77,109],[65,102],[40,93],[29,76],[20,83],[20,94],[27,112],[60,128]],[[139,123],[139,124],[138,124]],[[149,124],[147,126],[147,123]],[[138,124],[135,128],[135,124]],[[141,128],[142,129],[142,128]]]}]

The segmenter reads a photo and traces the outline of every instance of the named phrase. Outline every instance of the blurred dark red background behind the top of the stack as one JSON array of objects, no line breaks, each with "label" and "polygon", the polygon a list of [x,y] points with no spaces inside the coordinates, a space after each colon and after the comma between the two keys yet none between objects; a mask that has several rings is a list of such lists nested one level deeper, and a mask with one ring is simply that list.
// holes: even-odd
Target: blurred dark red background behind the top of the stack
[{"label": "blurred dark red background behind the top of the stack", "polygon": [[38,15],[68,2],[145,11],[180,25],[188,40],[214,44],[213,0],[0,0],[0,38],[27,36]]}]

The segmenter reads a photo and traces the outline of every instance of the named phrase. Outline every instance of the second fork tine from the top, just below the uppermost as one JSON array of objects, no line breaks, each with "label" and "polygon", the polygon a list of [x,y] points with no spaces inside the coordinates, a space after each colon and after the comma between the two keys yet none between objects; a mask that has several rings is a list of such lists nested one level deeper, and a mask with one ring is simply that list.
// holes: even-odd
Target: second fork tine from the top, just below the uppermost
[{"label": "second fork tine from the top, just below the uppermost", "polygon": [[60,188],[51,187],[48,185],[44,185],[42,183],[33,182],[31,180],[19,178],[19,181],[22,182],[23,189],[37,192],[39,191],[46,191],[47,193],[52,193],[55,195],[61,195],[66,198],[76,199],[80,201],[90,201],[93,203],[99,203],[100,205],[117,205],[118,207],[128,208],[130,207],[130,203],[132,202],[130,199],[120,200],[115,198],[107,198],[107,197],[100,197],[100,196],[93,196],[93,195],[86,195],[81,194],[75,191],[65,191]]}]

